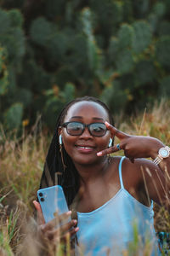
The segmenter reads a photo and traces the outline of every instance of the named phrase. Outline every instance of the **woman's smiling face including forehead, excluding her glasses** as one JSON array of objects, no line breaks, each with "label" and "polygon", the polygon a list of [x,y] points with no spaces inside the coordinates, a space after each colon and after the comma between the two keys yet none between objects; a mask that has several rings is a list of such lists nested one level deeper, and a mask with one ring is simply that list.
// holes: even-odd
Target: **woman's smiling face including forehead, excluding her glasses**
[{"label": "woman's smiling face including forehead, excluding her glasses", "polygon": [[[77,121],[83,124],[91,123],[105,123],[110,122],[108,113],[105,108],[96,102],[76,102],[68,109],[64,123]],[[67,154],[70,155],[74,164],[89,165],[101,161],[102,158],[96,154],[108,148],[111,138],[111,131],[106,131],[103,137],[94,137],[89,131],[88,127],[85,128],[82,135],[71,136],[67,133],[66,128],[60,131],[62,141],[65,146]]]}]

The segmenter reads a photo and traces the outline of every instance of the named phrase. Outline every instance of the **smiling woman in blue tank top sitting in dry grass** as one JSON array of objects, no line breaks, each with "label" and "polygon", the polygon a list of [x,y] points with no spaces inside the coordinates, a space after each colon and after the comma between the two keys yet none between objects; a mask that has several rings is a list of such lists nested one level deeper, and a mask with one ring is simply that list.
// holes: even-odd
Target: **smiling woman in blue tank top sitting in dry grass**
[{"label": "smiling woman in blue tank top sitting in dry grass", "polygon": [[[115,146],[114,137],[120,141]],[[125,157],[110,156],[118,150]],[[57,120],[40,184],[60,184],[71,212],[77,212],[77,220],[60,233],[77,233],[84,255],[122,255],[132,249],[137,230],[139,251],[149,248],[149,255],[157,255],[152,201],[170,210],[169,152],[154,137],[118,131],[98,99],[85,96],[70,102]],[[34,205],[42,216],[39,204]],[[53,241],[59,237],[53,221],[40,227],[43,236]]]}]

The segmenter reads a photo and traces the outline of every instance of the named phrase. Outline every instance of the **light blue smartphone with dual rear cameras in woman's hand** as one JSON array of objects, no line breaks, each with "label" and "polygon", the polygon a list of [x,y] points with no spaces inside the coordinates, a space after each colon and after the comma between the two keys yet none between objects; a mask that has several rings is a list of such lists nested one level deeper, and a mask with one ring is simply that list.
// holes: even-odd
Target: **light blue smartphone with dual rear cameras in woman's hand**
[{"label": "light blue smartphone with dual rear cameras in woman's hand", "polygon": [[[37,198],[42,207],[42,214],[46,223],[54,218],[55,212],[60,215],[69,211],[65,194],[59,185],[37,190]],[[70,220],[71,218],[67,219],[66,222]]]}]

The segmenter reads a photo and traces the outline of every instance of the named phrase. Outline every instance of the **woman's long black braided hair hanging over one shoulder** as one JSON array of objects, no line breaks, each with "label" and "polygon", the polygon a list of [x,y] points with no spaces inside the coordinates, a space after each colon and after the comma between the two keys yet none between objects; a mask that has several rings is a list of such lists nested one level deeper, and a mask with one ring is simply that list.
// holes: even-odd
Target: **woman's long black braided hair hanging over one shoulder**
[{"label": "woman's long black braided hair hanging over one shoulder", "polygon": [[[62,109],[59,117],[57,119],[54,137],[50,146],[48,148],[48,154],[45,161],[45,165],[42,172],[42,178],[40,182],[40,189],[54,186],[59,184],[64,189],[65,199],[71,210],[72,202],[75,199],[78,189],[79,189],[79,175],[76,167],[74,166],[71,157],[66,153],[65,147],[62,147],[63,160],[65,162],[65,170],[61,160],[61,155],[59,152],[59,126],[63,123],[65,115],[71,106],[77,102],[96,102],[105,108],[106,112],[109,115],[111,125],[114,125],[113,118],[109,108],[105,105],[104,102],[99,101],[99,99],[93,96],[83,96],[77,98],[68,104],[65,105],[65,108]],[[75,210],[75,209],[74,209]]]}]

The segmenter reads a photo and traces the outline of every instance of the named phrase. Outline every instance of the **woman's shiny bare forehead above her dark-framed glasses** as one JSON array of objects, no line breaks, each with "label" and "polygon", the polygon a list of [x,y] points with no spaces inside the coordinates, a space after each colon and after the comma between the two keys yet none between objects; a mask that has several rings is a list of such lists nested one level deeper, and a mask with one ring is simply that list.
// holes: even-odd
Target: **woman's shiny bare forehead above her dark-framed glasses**
[{"label": "woman's shiny bare forehead above her dark-framed glasses", "polygon": [[99,103],[97,102],[76,102],[68,109],[65,115],[65,121],[68,121],[72,117],[80,116],[82,118],[99,118],[107,121],[109,120],[109,114]]}]

